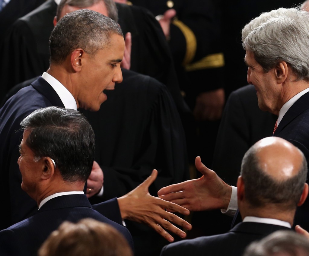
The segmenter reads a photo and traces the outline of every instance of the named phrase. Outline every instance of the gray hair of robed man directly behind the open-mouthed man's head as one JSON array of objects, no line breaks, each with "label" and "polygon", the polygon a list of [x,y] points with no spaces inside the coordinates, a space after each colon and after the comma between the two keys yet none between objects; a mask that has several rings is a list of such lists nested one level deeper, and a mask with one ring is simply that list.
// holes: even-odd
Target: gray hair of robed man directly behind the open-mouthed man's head
[{"label": "gray hair of robed man directly behind the open-mouthed man's head", "polygon": [[114,20],[115,22],[118,22],[118,10],[116,7],[116,3],[114,0],[61,0],[57,7],[57,12],[56,12],[56,18],[57,21],[59,21],[60,16],[61,16],[61,11],[64,6],[69,5],[69,6],[74,6],[77,8],[81,9],[87,9],[90,6],[93,6],[99,2],[104,2],[108,17]]}]

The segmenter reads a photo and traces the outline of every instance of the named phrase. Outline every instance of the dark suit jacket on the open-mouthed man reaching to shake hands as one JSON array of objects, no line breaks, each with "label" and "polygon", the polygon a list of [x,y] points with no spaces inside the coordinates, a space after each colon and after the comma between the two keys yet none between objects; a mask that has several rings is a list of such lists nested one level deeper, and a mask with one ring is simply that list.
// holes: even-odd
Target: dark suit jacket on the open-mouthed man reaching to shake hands
[{"label": "dark suit jacket on the open-mouthed man reaching to shake hands", "polygon": [[[0,230],[5,229],[29,216],[37,209],[36,202],[21,189],[21,174],[17,159],[18,146],[23,131],[20,122],[30,113],[41,107],[64,107],[57,93],[43,78],[39,77],[32,85],[12,96],[0,109],[0,204],[6,208],[0,218]],[[116,199],[97,206],[102,214],[108,214],[112,220],[121,223],[121,216]],[[108,209],[108,210],[105,210]],[[103,212],[105,210],[105,212]],[[116,217],[116,218],[115,218]]]}]

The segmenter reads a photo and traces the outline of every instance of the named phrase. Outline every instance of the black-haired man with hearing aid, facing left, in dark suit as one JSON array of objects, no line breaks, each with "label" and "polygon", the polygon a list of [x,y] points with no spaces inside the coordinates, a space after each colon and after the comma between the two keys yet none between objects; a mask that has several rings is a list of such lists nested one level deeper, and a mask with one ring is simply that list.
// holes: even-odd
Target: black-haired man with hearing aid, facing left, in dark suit
[{"label": "black-haired man with hearing aid, facing left, in dark suit", "polygon": [[127,239],[129,231],[95,211],[83,192],[95,154],[94,132],[78,111],[40,108],[21,122],[21,188],[39,207],[36,214],[0,231],[0,254],[36,255],[45,239],[64,221],[89,217],[112,225]]}]

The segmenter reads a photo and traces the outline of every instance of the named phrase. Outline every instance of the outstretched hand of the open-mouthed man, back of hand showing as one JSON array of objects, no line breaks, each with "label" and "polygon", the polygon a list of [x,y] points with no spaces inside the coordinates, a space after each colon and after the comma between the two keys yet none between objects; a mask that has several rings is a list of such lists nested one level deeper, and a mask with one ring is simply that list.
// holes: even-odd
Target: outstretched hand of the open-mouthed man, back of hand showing
[{"label": "outstretched hand of the open-mouthed man, back of hand showing", "polygon": [[188,230],[192,226],[171,212],[179,212],[183,215],[189,215],[190,212],[177,204],[149,194],[148,188],[154,182],[157,175],[158,171],[153,170],[151,175],[142,184],[128,194],[118,198],[118,204],[123,219],[144,223],[155,229],[167,241],[172,242],[174,238],[165,229],[182,238],[186,237],[186,233],[172,223]]}]

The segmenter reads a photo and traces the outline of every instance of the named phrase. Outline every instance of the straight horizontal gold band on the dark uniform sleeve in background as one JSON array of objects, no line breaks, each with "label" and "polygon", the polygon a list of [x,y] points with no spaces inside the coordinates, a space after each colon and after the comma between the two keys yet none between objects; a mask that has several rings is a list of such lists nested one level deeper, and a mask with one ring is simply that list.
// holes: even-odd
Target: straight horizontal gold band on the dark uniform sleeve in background
[{"label": "straight horizontal gold band on the dark uniform sleeve in background", "polygon": [[224,56],[222,52],[209,54],[200,61],[185,66],[186,71],[200,69],[221,68],[224,66]]}]

